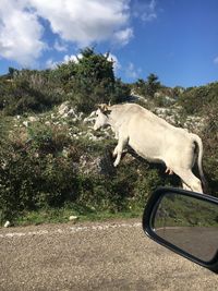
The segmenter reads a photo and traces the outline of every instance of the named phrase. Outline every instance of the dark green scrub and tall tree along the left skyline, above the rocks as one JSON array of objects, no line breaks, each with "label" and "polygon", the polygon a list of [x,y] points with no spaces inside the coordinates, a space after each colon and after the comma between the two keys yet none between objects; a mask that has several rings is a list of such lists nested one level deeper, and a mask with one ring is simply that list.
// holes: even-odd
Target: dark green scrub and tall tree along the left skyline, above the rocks
[{"label": "dark green scrub and tall tree along the left skyline, above the rocks", "polygon": [[129,86],[116,80],[108,54],[90,48],[82,50],[77,61],[55,70],[10,69],[8,77],[0,78],[0,109],[11,116],[40,112],[64,100],[90,112],[98,102],[121,102],[130,95]]}]

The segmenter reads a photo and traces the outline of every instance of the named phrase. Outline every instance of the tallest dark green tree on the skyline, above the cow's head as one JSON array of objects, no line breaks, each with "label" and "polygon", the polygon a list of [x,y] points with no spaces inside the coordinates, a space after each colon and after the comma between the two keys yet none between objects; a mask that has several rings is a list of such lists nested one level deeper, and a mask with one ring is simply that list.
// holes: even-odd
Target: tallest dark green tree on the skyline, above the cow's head
[{"label": "tallest dark green tree on the skyline, above the cow's head", "polygon": [[90,112],[96,104],[120,102],[130,94],[129,87],[116,80],[113,62],[108,60],[108,54],[85,48],[74,65],[73,77],[69,81],[69,97],[78,110]]}]

